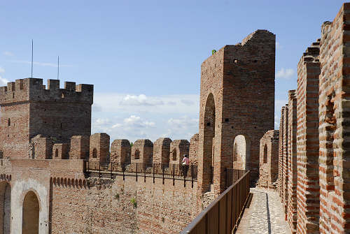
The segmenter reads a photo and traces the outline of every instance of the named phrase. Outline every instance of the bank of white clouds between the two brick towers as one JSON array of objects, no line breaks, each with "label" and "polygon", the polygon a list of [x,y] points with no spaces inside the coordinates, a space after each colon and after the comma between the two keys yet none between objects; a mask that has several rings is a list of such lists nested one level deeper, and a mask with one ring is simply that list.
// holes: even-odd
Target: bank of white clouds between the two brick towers
[{"label": "bank of white clouds between the two brick towers", "polygon": [[95,93],[92,110],[92,133],[105,132],[111,141],[155,141],[160,137],[190,140],[198,132],[200,96]]}]

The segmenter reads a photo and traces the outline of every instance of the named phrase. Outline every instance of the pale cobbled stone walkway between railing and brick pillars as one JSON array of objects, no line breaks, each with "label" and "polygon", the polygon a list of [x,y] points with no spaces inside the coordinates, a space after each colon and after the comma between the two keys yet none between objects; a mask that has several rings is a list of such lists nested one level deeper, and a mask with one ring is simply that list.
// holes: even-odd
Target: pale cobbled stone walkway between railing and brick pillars
[{"label": "pale cobbled stone walkway between railing and brick pillars", "polygon": [[290,234],[276,191],[253,188],[251,204],[244,211],[237,234]]}]

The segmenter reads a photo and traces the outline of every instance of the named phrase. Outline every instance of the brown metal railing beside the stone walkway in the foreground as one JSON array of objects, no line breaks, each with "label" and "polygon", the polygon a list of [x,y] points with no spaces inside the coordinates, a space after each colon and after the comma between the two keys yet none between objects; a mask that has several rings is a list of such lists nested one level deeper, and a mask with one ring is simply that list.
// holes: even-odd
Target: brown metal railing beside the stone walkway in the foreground
[{"label": "brown metal railing beside the stone walkway in the foreground", "polygon": [[[181,233],[231,234],[235,231],[248,200],[249,177],[250,171],[245,171],[244,175],[200,212]],[[233,180],[235,178],[232,177]]]}]

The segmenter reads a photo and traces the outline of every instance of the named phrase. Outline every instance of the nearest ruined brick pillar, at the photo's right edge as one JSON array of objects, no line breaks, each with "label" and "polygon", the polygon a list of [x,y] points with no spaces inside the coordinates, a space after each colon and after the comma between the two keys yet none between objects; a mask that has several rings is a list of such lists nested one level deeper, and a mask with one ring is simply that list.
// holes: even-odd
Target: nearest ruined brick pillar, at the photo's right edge
[{"label": "nearest ruined brick pillar, at the photo's right edge", "polygon": [[321,28],[319,77],[320,231],[350,233],[350,3]]}]

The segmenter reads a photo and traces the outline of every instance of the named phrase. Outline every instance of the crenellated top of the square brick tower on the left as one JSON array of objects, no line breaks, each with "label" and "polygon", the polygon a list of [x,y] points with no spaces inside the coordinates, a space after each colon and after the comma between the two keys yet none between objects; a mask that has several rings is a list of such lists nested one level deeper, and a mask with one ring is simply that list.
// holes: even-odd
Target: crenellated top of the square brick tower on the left
[{"label": "crenellated top of the square brick tower on the left", "polygon": [[58,103],[92,104],[94,85],[64,82],[64,89],[59,88],[59,80],[48,80],[47,89],[43,79],[25,78],[8,82],[0,87],[0,105],[26,101]]}]

